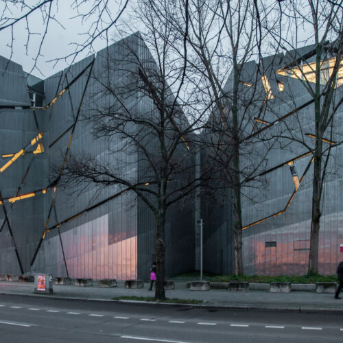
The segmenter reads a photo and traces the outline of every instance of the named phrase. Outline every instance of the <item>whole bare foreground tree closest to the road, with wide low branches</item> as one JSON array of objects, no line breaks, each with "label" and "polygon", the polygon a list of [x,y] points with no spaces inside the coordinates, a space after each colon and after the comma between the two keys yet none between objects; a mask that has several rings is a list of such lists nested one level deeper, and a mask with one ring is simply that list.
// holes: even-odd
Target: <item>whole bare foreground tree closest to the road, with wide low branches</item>
[{"label": "whole bare foreground tree closest to the road, with wide low branches", "polygon": [[[64,172],[68,182],[119,185],[134,191],[152,211],[158,299],[165,298],[167,210],[191,197],[199,180],[204,181],[201,175],[194,177],[194,131],[199,119],[187,112],[187,7],[185,11],[185,36],[180,36],[171,19],[182,19],[172,3],[140,2],[133,19],[139,16],[143,21],[144,40],[141,34],[133,34],[121,40],[117,52],[106,54],[104,65],[95,68],[95,93],[88,97],[84,112],[95,137],[108,139],[110,158],[99,161],[86,154],[70,155]],[[180,51],[185,58],[179,58]],[[129,172],[132,165],[138,174]]]}]

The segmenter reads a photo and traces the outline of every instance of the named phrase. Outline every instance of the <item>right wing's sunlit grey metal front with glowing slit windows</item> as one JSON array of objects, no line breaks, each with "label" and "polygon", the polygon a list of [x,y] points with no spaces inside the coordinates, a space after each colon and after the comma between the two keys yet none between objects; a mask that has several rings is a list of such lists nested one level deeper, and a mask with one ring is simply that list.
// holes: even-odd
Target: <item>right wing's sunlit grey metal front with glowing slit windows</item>
[{"label": "right wing's sunlit grey metal front with glowing slit windows", "polygon": [[[335,56],[342,53],[334,50],[335,44],[327,43],[324,47],[325,58],[320,69],[322,101]],[[316,48],[309,46],[270,56],[263,64],[267,68],[261,78],[265,77],[268,84],[261,81],[270,96],[266,98],[268,109],[255,118],[255,134],[269,130],[270,135],[279,137],[268,153],[263,170],[266,187],[263,190],[250,188],[249,196],[255,202],[244,200],[245,271],[247,274],[303,275],[308,270],[311,233],[314,178],[311,150],[315,149],[316,133],[314,97],[309,89],[314,90],[316,80]],[[253,70],[256,66],[248,65],[248,68]],[[334,113],[333,120],[322,139],[322,168],[327,165],[318,251],[319,272],[326,275],[335,274],[343,258],[340,251],[343,244],[342,84],[341,62],[329,110],[330,115]]]}]

